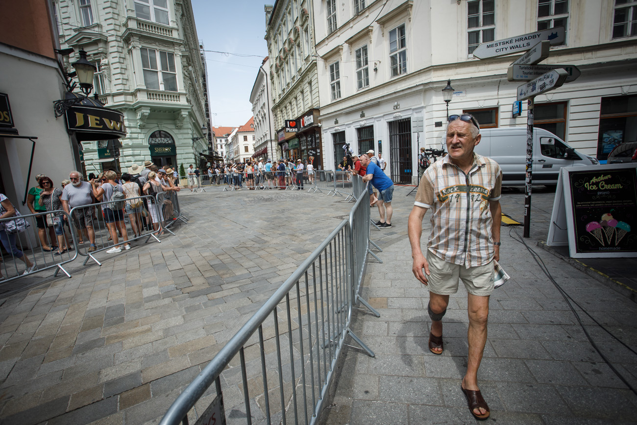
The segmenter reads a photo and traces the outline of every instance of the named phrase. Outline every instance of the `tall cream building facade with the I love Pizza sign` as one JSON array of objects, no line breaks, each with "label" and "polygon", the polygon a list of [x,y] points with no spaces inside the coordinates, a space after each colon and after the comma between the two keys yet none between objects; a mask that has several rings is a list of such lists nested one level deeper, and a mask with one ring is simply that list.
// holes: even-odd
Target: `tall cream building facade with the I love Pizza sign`
[{"label": "tall cream building facade with the I love Pizza sign", "polygon": [[[277,0],[265,10],[272,115],[280,152],[290,159],[311,156],[315,168],[323,168],[320,126],[314,119],[320,102],[312,1]],[[289,120],[296,122],[296,131],[286,131]]]}]

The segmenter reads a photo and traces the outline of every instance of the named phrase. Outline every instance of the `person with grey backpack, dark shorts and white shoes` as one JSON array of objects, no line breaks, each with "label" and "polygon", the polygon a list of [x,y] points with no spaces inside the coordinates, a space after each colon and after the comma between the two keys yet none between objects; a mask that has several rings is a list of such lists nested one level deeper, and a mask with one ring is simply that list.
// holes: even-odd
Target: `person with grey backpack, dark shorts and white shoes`
[{"label": "person with grey backpack, dark shorts and white shoes", "polygon": [[[117,173],[115,171],[106,171],[102,179],[102,185],[98,186],[95,180],[91,181],[93,187],[93,196],[100,202],[109,202],[111,198],[117,198],[116,193],[122,193],[122,185],[115,182],[117,179]],[[113,199],[115,201],[115,199]],[[122,239],[124,240],[124,249],[131,249],[131,244],[128,242],[128,234],[126,230],[126,223],[124,222],[124,212],[116,206],[118,202],[108,203],[102,205],[102,212],[104,213],[104,221],[108,227],[108,233],[113,238],[115,244],[110,250],[106,251],[106,254],[117,254],[122,252],[122,247],[119,246],[119,240],[117,238],[117,229],[122,233]]]}]

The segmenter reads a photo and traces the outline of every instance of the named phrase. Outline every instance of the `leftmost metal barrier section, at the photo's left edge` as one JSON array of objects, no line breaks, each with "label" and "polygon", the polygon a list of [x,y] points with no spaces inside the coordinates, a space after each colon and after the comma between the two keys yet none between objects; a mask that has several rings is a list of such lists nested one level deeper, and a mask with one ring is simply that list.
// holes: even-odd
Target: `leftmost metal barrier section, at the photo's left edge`
[{"label": "leftmost metal barrier section, at the photo's left edge", "polygon": [[[55,226],[61,226],[58,227],[58,229],[61,229],[62,231],[62,239],[55,234],[54,238],[51,237],[50,229],[54,229],[54,225],[48,226],[47,217],[48,222],[54,223]],[[43,237],[45,238],[46,245],[48,245],[48,247],[59,245],[62,241],[62,244],[68,244],[67,246],[69,248],[46,250],[38,236],[38,219],[43,220],[41,222],[47,226],[44,229]],[[62,267],[62,265],[70,263],[78,256],[78,245],[73,232],[68,227],[69,215],[62,210],[55,210],[51,212],[41,212],[1,219],[0,224],[6,224],[7,222],[15,220],[25,220],[25,222],[29,225],[24,230],[13,234],[8,234],[5,230],[1,230],[0,232],[4,233],[3,238],[8,238],[10,245],[15,245],[15,248],[22,252],[22,257],[14,256],[13,252],[17,253],[17,251],[13,251],[13,249],[11,249],[11,251],[7,250],[6,254],[4,254],[4,250],[0,249],[0,260],[2,261],[2,263],[0,263],[0,270],[2,271],[0,282],[6,283],[24,275],[32,275],[33,273],[38,273],[52,268],[56,269],[54,273],[54,276],[56,277],[60,270],[62,270],[62,272],[64,272],[64,274],[68,277],[71,277],[68,271],[64,270],[64,267]],[[69,240],[69,238],[71,238],[71,240]],[[15,241],[15,243],[12,243],[13,241]],[[25,257],[32,263],[32,268],[27,267],[27,262],[24,260]]]}]

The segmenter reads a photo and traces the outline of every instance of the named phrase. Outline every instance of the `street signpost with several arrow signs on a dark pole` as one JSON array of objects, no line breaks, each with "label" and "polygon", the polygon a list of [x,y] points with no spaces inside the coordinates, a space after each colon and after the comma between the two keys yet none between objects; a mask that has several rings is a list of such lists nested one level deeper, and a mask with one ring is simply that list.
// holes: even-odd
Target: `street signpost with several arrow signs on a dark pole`
[{"label": "street signpost with several arrow signs on a dark pole", "polygon": [[[531,231],[531,182],[533,181],[533,105],[538,94],[557,89],[565,82],[574,81],[580,76],[580,70],[573,65],[538,65],[547,59],[549,47],[564,42],[564,27],[555,27],[543,31],[529,32],[521,36],[482,43],[473,55],[478,59],[487,59],[526,52],[511,64],[506,78],[509,81],[527,82],[517,88],[517,102],[514,103],[513,117],[519,116],[519,102],[528,99],[526,122],[526,196],[524,197],[524,237],[530,237]],[[521,105],[520,105],[521,106]]]}]

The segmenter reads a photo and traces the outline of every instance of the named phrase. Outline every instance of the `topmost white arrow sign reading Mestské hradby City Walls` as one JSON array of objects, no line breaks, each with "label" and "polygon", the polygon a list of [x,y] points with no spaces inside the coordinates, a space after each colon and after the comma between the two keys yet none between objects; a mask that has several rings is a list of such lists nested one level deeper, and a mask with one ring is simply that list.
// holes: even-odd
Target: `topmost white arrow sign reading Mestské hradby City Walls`
[{"label": "topmost white arrow sign reading Mestsk\u00e9 hradby City Walls", "polygon": [[564,42],[564,27],[543,29],[542,31],[529,32],[521,36],[504,38],[503,40],[489,41],[482,43],[473,55],[478,59],[487,57],[497,57],[510,55],[512,53],[525,52],[538,41],[548,40],[550,45],[557,45]]}]

